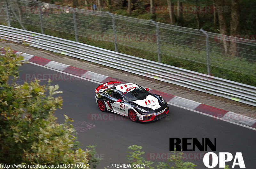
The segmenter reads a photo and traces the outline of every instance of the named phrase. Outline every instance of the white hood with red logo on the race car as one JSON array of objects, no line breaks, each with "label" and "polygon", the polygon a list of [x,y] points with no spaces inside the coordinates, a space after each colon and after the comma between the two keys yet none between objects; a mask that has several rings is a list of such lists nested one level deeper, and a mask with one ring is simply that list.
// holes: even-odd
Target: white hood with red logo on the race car
[{"label": "white hood with red logo on the race car", "polygon": [[133,103],[141,106],[141,107],[148,107],[153,110],[156,110],[160,108],[161,106],[159,105],[158,99],[152,95],[148,95],[146,99],[143,100],[134,100],[132,101]]}]

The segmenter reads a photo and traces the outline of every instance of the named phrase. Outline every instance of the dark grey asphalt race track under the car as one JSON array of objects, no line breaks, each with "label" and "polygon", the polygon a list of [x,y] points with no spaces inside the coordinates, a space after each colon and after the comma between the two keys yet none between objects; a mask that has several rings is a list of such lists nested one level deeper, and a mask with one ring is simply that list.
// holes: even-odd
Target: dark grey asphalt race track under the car
[{"label": "dark grey asphalt race track under the car", "polygon": [[[21,83],[31,73],[57,74],[58,77],[64,77],[64,74],[60,76],[59,72],[33,64],[24,64],[20,70],[22,70],[21,80],[19,80]],[[131,145],[142,146],[142,151],[145,151],[143,157],[146,160],[156,163],[168,162],[166,157],[170,153],[170,137],[196,137],[198,140],[209,137],[212,141],[216,137],[217,151],[215,153],[218,156],[219,152],[230,152],[233,157],[236,152],[242,152],[245,167],[253,169],[256,166],[256,131],[253,129],[171,105],[170,114],[164,119],[148,123],[134,123],[123,116],[99,110],[94,92],[99,84],[69,78],[68,75],[65,75],[65,79],[55,80],[52,83],[60,86],[64,100],[62,109],[57,110],[55,115],[60,123],[64,121],[63,114],[74,120],[78,141],[82,144],[80,148],[86,149],[87,145],[98,145],[96,156],[102,160],[97,168],[110,168],[111,164],[127,164],[128,153],[126,151],[130,151],[127,148]],[[42,80],[41,83],[45,82],[46,80]],[[207,152],[209,151],[211,150]],[[198,149],[192,152],[186,151],[187,159],[185,160],[198,165],[196,168],[206,168],[203,163],[204,153],[206,151],[200,152]],[[233,160],[226,164],[231,168]],[[235,168],[239,167],[236,165]]]}]

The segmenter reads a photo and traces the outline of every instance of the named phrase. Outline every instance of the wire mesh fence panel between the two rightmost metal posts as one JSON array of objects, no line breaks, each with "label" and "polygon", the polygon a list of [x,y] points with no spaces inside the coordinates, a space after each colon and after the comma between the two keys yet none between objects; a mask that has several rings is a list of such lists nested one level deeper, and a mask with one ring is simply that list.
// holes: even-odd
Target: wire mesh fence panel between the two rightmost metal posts
[{"label": "wire mesh fence panel between the two rightmost metal posts", "polygon": [[[206,64],[206,42],[201,31],[161,23],[159,27],[163,63],[178,67],[184,67],[182,64],[187,64],[187,61]],[[175,58],[183,59],[184,62],[175,63]]]}]

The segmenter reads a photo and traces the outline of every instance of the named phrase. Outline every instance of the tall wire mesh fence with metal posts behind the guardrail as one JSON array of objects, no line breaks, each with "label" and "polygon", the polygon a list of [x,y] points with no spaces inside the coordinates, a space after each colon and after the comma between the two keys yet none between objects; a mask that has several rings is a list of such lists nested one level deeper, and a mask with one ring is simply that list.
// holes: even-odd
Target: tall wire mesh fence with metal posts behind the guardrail
[{"label": "tall wire mesh fence with metal posts behind the guardrail", "polygon": [[0,3],[1,24],[256,86],[254,40],[35,0]]}]

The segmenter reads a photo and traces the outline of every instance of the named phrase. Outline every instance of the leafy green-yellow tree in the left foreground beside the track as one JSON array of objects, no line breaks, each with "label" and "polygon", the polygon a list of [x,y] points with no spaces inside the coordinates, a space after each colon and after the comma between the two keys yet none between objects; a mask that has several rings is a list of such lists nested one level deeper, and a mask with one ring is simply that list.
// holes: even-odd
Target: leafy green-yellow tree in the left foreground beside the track
[{"label": "leafy green-yellow tree in the left foreground beside the track", "polygon": [[[6,49],[0,55],[0,161],[3,164],[97,164],[95,151],[78,148],[72,119],[56,122],[61,108],[58,85],[39,85],[39,80],[15,83],[22,56]],[[13,81],[10,82],[10,77]],[[9,80],[9,81],[8,81]],[[77,168],[77,167],[76,167]]]}]

